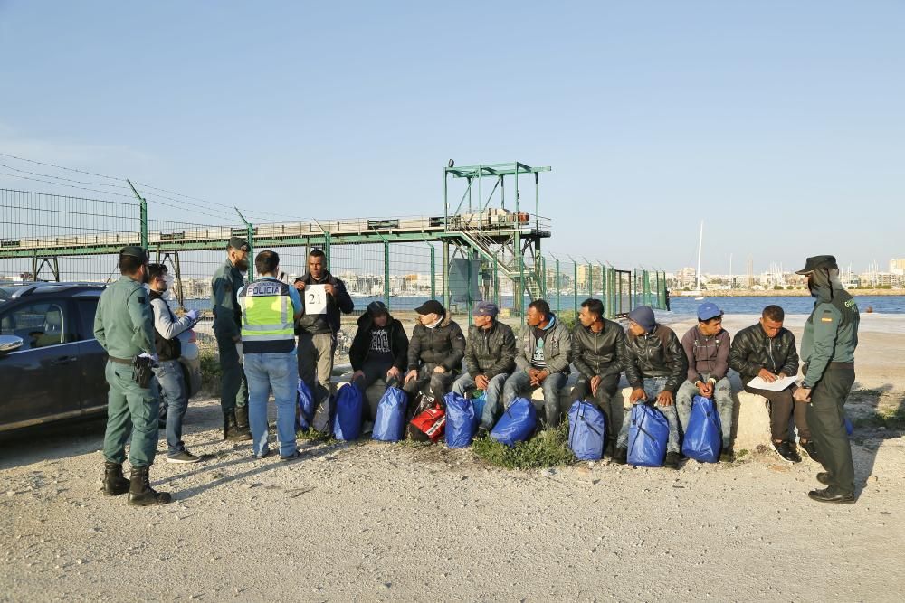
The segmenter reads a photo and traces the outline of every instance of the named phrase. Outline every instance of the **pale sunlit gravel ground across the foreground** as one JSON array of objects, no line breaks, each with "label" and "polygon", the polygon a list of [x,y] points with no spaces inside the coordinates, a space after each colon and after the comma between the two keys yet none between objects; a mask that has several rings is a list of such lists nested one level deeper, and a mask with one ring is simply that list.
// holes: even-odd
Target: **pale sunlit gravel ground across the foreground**
[{"label": "pale sunlit gravel ground across the foreground", "polygon": [[[905,334],[866,330],[855,414],[905,403],[902,356],[890,359],[903,347]],[[898,601],[905,592],[901,433],[855,432],[860,492],[847,506],[806,497],[821,487],[812,461],[787,465],[767,451],[678,472],[606,462],[519,472],[470,450],[364,442],[304,445],[283,463],[221,441],[219,421],[215,400],[193,400],[186,444],[210,457],[157,463],[152,481],[175,501],[145,509],[100,495],[98,421],[0,441],[0,600]]]}]

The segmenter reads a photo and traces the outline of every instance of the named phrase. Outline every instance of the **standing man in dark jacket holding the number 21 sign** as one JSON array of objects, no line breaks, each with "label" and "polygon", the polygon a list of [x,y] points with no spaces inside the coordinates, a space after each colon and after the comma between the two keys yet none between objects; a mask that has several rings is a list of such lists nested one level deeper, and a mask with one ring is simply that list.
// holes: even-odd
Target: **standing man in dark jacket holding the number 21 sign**
[{"label": "standing man in dark jacket holding the number 21 sign", "polygon": [[321,250],[311,250],[308,271],[295,279],[300,292],[304,314],[296,327],[299,335],[299,377],[308,384],[318,404],[313,427],[327,432],[330,429],[330,373],[333,372],[333,353],[339,331],[339,314],[349,314],[355,308],[346,284],[329,273],[327,256]]}]

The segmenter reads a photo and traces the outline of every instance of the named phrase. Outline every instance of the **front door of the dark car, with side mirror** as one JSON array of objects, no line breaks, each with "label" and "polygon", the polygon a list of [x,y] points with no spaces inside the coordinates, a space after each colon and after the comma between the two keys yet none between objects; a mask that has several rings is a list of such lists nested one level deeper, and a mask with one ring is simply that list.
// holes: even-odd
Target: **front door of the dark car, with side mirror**
[{"label": "front door of the dark car, with side mirror", "polygon": [[23,345],[0,355],[0,429],[79,414],[79,343],[67,301],[28,299],[2,312],[2,334]]}]

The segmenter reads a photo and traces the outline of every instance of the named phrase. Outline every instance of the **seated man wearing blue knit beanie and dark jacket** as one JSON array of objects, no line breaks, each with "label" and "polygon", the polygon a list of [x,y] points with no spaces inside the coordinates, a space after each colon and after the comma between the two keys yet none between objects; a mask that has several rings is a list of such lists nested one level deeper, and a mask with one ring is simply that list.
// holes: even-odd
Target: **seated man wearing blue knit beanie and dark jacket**
[{"label": "seated man wearing blue knit beanie and dark jacket", "polygon": [[[632,386],[629,402],[653,401],[670,425],[666,443],[665,466],[679,468],[679,416],[675,407],[675,391],[688,371],[688,360],[675,332],[658,325],[650,306],[638,306],[628,313],[628,338],[625,341],[625,379]],[[631,413],[625,415],[614,460],[624,463],[628,457],[628,429]]]}]

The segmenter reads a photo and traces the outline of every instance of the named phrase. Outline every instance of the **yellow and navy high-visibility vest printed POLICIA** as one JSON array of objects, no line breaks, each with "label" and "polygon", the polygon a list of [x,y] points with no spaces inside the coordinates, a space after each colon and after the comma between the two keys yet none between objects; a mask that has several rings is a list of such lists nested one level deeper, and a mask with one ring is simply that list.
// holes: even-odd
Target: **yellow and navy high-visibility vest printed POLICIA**
[{"label": "yellow and navy high-visibility vest printed POLICIA", "polygon": [[272,278],[249,283],[238,295],[242,308],[243,353],[295,350],[289,285]]}]

